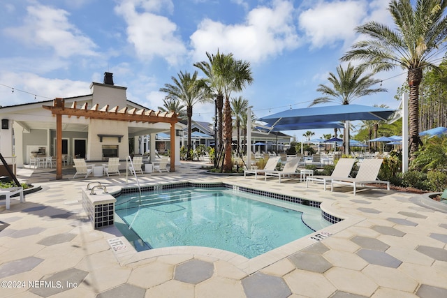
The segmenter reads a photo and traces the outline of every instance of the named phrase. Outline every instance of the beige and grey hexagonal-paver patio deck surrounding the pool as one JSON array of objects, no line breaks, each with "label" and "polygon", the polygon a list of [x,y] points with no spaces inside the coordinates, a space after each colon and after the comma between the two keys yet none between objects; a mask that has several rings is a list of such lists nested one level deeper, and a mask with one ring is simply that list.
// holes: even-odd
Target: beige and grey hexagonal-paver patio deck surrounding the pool
[{"label": "beige and grey hexagonal-paver patio deck surrounding the pool", "polygon": [[[182,246],[137,253],[115,228],[94,230],[81,189],[121,177],[55,180],[54,169],[19,169],[39,185],[25,203],[0,205],[1,297],[447,297],[447,213],[416,204],[411,193],[340,187],[333,193],[298,179],[203,174],[201,163],[139,175],[140,184],[222,181],[322,202],[344,218],[253,259]],[[113,249],[120,244],[122,249]]]}]

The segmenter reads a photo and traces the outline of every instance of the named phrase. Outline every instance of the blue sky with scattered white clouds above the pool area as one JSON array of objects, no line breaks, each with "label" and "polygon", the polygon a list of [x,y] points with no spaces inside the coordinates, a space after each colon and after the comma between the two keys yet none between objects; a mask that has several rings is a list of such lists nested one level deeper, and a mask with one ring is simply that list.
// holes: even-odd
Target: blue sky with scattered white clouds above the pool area
[{"label": "blue sky with scattered white clouds above the pool area", "polygon": [[[387,9],[388,0],[3,0],[0,105],[86,95],[110,72],[129,100],[158,110],[160,88],[219,50],[250,63],[253,84],[232,95],[256,117],[307,107],[361,38],[356,26],[393,24]],[[397,108],[406,72],[374,77],[388,92],[353,103]],[[213,116],[212,103],[193,107],[197,121]],[[304,131],[286,133],[300,140]]]}]

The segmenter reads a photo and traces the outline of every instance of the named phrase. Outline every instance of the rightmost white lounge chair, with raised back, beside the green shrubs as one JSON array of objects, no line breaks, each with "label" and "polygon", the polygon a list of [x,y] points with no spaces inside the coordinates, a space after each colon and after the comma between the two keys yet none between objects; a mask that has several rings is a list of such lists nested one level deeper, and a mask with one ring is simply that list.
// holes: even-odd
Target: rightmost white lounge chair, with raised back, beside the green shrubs
[{"label": "rightmost white lounge chair, with raised back, beside the green shrubs", "polygon": [[353,186],[354,195],[356,195],[357,186],[365,184],[386,184],[386,189],[390,190],[390,182],[377,180],[383,159],[364,159],[360,163],[356,178],[334,178],[330,184],[330,190],[334,190],[334,184]]}]

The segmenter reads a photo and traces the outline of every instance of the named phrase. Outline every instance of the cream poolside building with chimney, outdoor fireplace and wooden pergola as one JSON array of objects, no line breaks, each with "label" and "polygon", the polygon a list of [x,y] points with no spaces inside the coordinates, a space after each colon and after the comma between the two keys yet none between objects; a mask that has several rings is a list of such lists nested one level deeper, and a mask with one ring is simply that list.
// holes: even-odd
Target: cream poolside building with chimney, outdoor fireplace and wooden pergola
[{"label": "cream poolside building with chimney, outdoor fireplace and wooden pergola", "polygon": [[[57,119],[61,115],[61,154],[107,161],[126,160],[129,144],[142,135],[170,133],[175,137],[171,168],[179,164],[179,137],[184,128],[174,113],[154,112],[126,98],[126,87],[116,86],[112,73],[104,82],[92,82],[90,94],[38,103],[0,107],[0,153],[15,156],[17,167],[29,164],[30,156],[57,156]],[[129,140],[131,143],[129,143]],[[155,152],[155,142],[149,147]],[[139,149],[138,143],[133,148]],[[136,151],[135,154],[142,152]],[[152,158],[155,156],[151,155]]]}]

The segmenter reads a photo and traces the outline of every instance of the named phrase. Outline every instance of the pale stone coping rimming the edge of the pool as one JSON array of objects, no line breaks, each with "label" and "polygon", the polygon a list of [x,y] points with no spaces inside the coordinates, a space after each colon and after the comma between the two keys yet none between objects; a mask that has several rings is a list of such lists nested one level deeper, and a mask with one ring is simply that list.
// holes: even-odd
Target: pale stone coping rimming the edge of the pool
[{"label": "pale stone coping rimming the edge of the pool", "polygon": [[[170,184],[151,184],[148,186],[143,186],[142,188],[152,188],[153,191],[157,191],[160,189],[163,189],[163,187],[160,188],[160,186],[172,186],[170,188],[180,188],[180,187],[187,187],[187,186],[201,186],[201,187],[221,187],[221,185],[226,184],[226,187],[228,186],[237,186],[240,188],[245,189],[251,189],[247,188],[245,186],[238,186],[237,184],[228,184],[226,182],[222,181],[215,181],[215,182],[204,182],[204,183],[197,183],[197,182],[191,182],[191,181],[180,181],[177,183],[170,183]],[[230,187],[229,187],[230,188]],[[113,191],[110,193],[113,196],[117,196],[122,193],[124,190],[124,193],[131,193],[138,191],[138,186],[129,186],[121,188],[117,191]],[[274,196],[282,196],[282,198],[286,197],[292,197],[291,195],[284,195],[281,193],[275,193],[275,192],[267,192],[267,191],[258,191],[253,190],[252,191],[256,193],[270,193],[270,195]],[[259,194],[261,194],[259,193]],[[270,197],[272,198],[272,197]],[[296,197],[294,197],[296,198]],[[300,199],[300,198],[297,198]],[[307,199],[300,199],[300,200],[307,200]],[[312,200],[312,202],[318,202],[316,200]],[[206,256],[208,258],[213,259],[219,259],[219,260],[225,260],[226,262],[229,262],[233,266],[235,266],[237,269],[240,269],[244,271],[247,274],[253,274],[256,271],[259,271],[260,269],[263,269],[265,267],[268,267],[272,265],[275,262],[278,262],[279,260],[282,260],[284,258],[287,258],[297,251],[301,251],[302,249],[307,248],[308,246],[311,246],[313,244],[316,244],[318,241],[325,239],[327,237],[332,236],[333,234],[337,234],[338,232],[341,232],[342,230],[345,230],[346,228],[351,227],[352,225],[356,225],[357,223],[360,223],[361,221],[364,221],[366,218],[356,217],[352,216],[351,214],[348,216],[348,214],[341,214],[339,210],[335,210],[331,208],[331,205],[334,204],[334,202],[318,202],[318,207],[321,209],[322,213],[328,214],[329,216],[333,216],[334,218],[337,218],[337,222],[333,223],[332,225],[325,227],[321,230],[317,230],[311,234],[308,234],[305,237],[302,237],[300,239],[296,239],[294,241],[289,242],[288,244],[284,244],[283,246],[279,246],[278,248],[272,249],[272,251],[268,251],[266,253],[263,253],[262,255],[258,255],[254,258],[246,258],[242,255],[239,255],[237,253],[233,253],[230,251],[224,251],[219,248],[208,248],[204,246],[170,246],[165,248],[152,248],[147,251],[136,251],[136,249],[133,247],[133,245],[129,242],[129,240],[126,239],[126,237],[118,230],[118,228],[115,225],[102,228],[101,231],[108,232],[110,234],[115,235],[114,238],[109,239],[109,245],[112,249],[115,258],[117,258],[117,261],[120,265],[129,265],[134,262],[140,262],[142,260],[146,260],[149,258],[155,258],[155,257],[161,257],[163,255],[173,255],[173,254],[188,254],[188,255],[201,255]],[[299,203],[298,203],[299,204]]]}]

